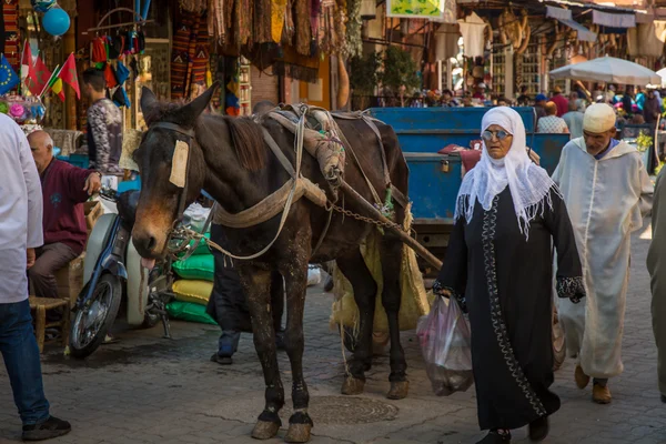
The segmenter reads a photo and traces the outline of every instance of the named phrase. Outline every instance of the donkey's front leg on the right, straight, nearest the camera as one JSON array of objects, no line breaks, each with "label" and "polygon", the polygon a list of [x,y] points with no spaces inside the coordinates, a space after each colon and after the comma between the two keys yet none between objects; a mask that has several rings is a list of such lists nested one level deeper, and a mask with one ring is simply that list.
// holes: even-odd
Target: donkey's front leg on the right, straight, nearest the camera
[{"label": "donkey's front leg on the right, straight, nearest the camera", "polygon": [[290,264],[291,272],[284,273],[286,286],[286,334],[284,346],[291,362],[293,385],[292,401],[294,413],[289,418],[289,431],[284,436],[287,443],[306,443],[313,426],[307,414],[310,394],[303,377],[303,311],[307,290],[307,263]]}]

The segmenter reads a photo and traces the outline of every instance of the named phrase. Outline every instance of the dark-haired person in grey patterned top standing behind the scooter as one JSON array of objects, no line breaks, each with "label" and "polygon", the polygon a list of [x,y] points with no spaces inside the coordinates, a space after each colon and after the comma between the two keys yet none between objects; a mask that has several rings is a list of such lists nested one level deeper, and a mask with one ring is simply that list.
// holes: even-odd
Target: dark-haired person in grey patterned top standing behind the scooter
[{"label": "dark-haired person in grey patterned top standing behind the scooter", "polygon": [[95,68],[83,71],[83,95],[88,108],[88,155],[90,168],[103,174],[121,174],[118,161],[122,153],[122,115],[107,99],[104,73]]}]

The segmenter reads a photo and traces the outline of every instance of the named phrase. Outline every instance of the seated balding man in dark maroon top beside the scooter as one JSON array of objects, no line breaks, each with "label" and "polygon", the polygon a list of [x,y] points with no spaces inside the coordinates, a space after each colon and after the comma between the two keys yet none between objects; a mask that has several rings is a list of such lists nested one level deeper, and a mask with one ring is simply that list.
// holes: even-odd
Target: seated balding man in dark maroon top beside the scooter
[{"label": "seated balding man in dark maroon top beside the scooter", "polygon": [[28,135],[42,184],[44,244],[37,249],[30,280],[38,297],[58,297],[54,273],[83,252],[87,230],[83,202],[101,188],[101,174],[53,158],[44,131]]}]

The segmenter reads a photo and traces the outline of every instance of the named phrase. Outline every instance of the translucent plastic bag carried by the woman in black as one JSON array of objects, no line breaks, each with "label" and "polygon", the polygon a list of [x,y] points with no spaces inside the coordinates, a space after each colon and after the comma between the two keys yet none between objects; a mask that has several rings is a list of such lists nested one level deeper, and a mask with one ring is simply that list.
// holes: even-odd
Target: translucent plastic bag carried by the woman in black
[{"label": "translucent plastic bag carried by the woman in black", "polygon": [[418,320],[416,335],[437,396],[472,386],[470,324],[455,300],[435,297],[430,314]]}]

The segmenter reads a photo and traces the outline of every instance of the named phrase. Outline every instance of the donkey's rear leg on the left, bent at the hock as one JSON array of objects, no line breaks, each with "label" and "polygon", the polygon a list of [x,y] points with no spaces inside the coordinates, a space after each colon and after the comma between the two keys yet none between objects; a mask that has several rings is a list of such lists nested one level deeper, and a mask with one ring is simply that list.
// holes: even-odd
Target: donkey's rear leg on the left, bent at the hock
[{"label": "donkey's rear leg on the left, bent at the hock", "polygon": [[[354,301],[359,306],[361,325],[359,341],[350,363],[350,373],[342,384],[343,395],[363,393],[365,385],[365,369],[372,364],[372,324],[374,321],[377,285],[372,273],[365,265],[361,250],[337,259],[337,266],[354,289]],[[341,332],[341,334],[344,334]]]}]

